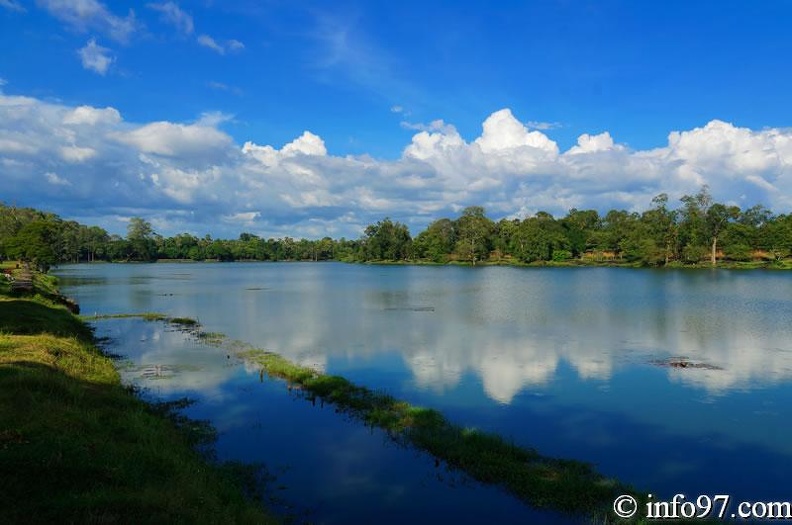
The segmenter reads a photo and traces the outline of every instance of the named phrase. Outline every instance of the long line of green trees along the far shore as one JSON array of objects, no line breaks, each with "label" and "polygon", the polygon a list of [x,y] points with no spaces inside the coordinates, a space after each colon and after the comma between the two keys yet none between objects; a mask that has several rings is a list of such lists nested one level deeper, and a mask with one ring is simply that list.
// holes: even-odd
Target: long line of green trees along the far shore
[{"label": "long line of green trees along the far shore", "polygon": [[704,186],[671,208],[666,194],[643,213],[570,210],[555,218],[538,212],[523,219],[487,217],[481,206],[433,221],[412,237],[390,218],[371,224],[359,239],[264,239],[242,233],[232,240],[188,233],[163,237],[140,217],[126,237],[55,214],[0,204],[0,259],[42,268],[66,262],[154,261],[404,261],[611,262],[645,266],[715,265],[718,261],[781,261],[792,255],[792,215],[762,205],[745,210],[715,202]]}]

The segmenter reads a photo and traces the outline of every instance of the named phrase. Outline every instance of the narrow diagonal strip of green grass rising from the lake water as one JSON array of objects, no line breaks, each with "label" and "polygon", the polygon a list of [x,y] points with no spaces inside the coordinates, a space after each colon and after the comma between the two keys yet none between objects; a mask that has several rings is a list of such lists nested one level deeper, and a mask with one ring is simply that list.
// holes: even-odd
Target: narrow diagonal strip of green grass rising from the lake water
[{"label": "narrow diagonal strip of green grass rising from the lake water", "polygon": [[424,450],[483,483],[501,485],[534,507],[608,520],[614,498],[635,493],[587,463],[544,457],[498,435],[455,425],[436,410],[411,406],[277,354],[248,350],[238,355],[261,366],[262,374],[285,379],[306,398],[333,403],[366,424],[384,429],[397,442]]}]

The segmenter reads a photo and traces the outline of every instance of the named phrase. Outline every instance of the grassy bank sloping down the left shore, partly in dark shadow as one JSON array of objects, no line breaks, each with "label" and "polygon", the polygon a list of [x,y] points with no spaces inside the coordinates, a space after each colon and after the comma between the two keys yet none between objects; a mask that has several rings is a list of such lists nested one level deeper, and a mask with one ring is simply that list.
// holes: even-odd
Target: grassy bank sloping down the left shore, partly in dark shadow
[{"label": "grassy bank sloping down the left shore, partly in dark shadow", "polygon": [[0,284],[0,523],[274,523],[196,451],[207,427],[123,387],[51,293]]}]

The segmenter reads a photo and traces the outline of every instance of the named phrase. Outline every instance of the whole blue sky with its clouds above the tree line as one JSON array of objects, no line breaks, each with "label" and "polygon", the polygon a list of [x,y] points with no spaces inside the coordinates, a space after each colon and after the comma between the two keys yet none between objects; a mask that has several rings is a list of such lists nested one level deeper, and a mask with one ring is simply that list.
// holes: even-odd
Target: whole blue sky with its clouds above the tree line
[{"label": "whole blue sky with its clouds above the tree line", "polygon": [[0,202],[124,235],[792,211],[792,2],[0,0]]}]

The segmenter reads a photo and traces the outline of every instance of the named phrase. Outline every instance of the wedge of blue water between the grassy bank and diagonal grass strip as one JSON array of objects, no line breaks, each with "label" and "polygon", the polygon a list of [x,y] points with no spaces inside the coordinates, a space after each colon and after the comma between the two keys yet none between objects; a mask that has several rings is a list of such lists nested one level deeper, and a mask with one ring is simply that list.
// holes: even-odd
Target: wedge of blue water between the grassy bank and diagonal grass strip
[{"label": "wedge of blue water between the grassy bank and diagonal grass strip", "polygon": [[[112,338],[111,348],[126,363],[125,381],[146,388],[148,396],[197,400],[185,412],[218,430],[219,459],[264,463],[276,476],[267,497],[278,498],[272,506],[286,515],[327,525],[582,522],[532,510],[449,472],[164,323],[99,321],[97,335]],[[165,372],[147,375],[156,366]]]}]

